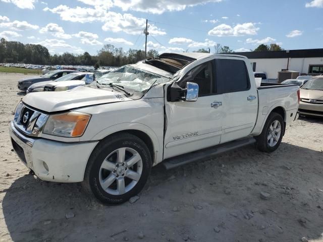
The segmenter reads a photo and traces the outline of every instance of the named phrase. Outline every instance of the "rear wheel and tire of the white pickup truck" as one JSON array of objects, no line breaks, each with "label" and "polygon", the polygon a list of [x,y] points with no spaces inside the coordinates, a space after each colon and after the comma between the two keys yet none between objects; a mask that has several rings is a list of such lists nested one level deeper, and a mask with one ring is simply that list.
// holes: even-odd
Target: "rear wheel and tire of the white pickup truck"
[{"label": "rear wheel and tire of the white pickup truck", "polygon": [[275,151],[281,144],[284,133],[285,124],[283,117],[279,113],[272,112],[268,116],[261,134],[256,137],[257,148],[268,153]]}]

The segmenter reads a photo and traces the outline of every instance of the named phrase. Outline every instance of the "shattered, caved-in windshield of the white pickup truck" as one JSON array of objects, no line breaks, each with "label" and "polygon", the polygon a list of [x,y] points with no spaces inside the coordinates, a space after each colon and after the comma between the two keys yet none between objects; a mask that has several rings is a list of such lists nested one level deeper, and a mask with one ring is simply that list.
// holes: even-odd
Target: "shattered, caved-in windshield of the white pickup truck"
[{"label": "shattered, caved-in windshield of the white pickup truck", "polygon": [[132,66],[123,66],[97,79],[97,83],[100,85],[109,85],[112,83],[143,94],[146,93],[152,85],[168,81],[169,79],[166,77],[146,72]]}]

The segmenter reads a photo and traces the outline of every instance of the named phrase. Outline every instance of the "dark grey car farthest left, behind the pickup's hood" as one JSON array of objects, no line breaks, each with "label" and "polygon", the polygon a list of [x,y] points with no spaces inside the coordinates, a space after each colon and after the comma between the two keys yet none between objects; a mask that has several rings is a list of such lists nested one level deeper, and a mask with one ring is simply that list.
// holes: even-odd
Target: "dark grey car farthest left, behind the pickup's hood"
[{"label": "dark grey car farthest left, behind the pickup's hood", "polygon": [[41,76],[27,77],[18,81],[18,88],[19,90],[26,92],[28,87],[30,87],[34,83],[43,82],[43,81],[53,81],[73,72],[77,72],[77,71],[55,70]]}]

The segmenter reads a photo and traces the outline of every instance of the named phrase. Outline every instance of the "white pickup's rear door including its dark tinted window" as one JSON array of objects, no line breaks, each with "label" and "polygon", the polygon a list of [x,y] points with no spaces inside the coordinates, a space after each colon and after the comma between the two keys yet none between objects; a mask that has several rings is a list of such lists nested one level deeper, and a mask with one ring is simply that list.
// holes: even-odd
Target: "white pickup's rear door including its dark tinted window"
[{"label": "white pickup's rear door including its dark tinted window", "polygon": [[244,59],[225,56],[216,59],[216,80],[223,94],[221,143],[248,136],[256,122],[258,100]]}]

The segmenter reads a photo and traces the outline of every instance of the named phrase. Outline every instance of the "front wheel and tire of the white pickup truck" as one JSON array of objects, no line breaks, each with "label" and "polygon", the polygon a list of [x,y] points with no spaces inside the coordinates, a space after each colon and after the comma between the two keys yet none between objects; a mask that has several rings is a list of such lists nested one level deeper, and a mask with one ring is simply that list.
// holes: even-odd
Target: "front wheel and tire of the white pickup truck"
[{"label": "front wheel and tire of the white pickup truck", "polygon": [[128,133],[112,135],[90,155],[82,186],[105,205],[121,204],[143,189],[151,164],[149,149],[141,139]]}]

